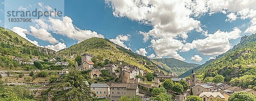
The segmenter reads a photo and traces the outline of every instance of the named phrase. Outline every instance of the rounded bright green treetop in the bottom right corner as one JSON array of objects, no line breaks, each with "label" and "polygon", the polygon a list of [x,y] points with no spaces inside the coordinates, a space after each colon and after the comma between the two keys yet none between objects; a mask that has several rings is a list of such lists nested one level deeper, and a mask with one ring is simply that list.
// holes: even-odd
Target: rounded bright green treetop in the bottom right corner
[{"label": "rounded bright green treetop in the bottom right corner", "polygon": [[230,95],[228,101],[256,101],[256,98],[247,92],[236,92]]}]

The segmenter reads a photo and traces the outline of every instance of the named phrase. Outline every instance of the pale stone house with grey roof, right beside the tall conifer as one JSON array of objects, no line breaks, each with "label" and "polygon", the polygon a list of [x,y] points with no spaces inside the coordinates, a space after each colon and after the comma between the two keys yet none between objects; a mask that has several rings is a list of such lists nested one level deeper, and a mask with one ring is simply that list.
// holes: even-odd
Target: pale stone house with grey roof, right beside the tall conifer
[{"label": "pale stone house with grey roof, right beside the tall conifer", "polygon": [[108,98],[110,95],[110,86],[105,83],[93,83],[90,90],[96,93],[97,98]]}]

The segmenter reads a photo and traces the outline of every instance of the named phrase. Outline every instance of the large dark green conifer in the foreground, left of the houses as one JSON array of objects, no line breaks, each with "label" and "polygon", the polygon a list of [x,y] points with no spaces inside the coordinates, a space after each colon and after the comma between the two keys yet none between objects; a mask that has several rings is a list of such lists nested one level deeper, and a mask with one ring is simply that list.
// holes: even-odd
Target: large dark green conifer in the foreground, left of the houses
[{"label": "large dark green conifer in the foreground, left of the houses", "polygon": [[76,68],[71,68],[67,75],[64,75],[58,85],[53,86],[52,88],[63,89],[65,87],[69,87],[67,89],[61,91],[55,91],[53,94],[52,100],[58,101],[92,101],[94,95],[87,85],[84,84],[84,77],[81,72],[77,71]]}]

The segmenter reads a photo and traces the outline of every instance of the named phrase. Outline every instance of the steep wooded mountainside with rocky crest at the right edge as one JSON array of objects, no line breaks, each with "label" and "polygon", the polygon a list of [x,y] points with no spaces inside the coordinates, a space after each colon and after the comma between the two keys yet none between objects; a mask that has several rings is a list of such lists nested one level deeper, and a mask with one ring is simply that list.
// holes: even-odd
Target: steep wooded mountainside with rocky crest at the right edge
[{"label": "steep wooded mountainside with rocky crest at the right edge", "polygon": [[[242,37],[239,44],[196,70],[204,78],[222,75],[227,82],[235,77],[256,75],[256,34]],[[182,76],[188,76],[188,73]]]}]

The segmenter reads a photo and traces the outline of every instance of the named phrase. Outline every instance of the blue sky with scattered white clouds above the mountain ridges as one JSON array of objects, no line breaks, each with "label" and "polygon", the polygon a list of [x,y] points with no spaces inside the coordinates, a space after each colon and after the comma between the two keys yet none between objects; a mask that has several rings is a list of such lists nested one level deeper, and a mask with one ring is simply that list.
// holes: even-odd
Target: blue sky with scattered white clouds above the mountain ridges
[{"label": "blue sky with scattered white clouds above the mountain ridges", "polygon": [[[203,8],[195,6],[195,8],[198,9],[181,8],[181,10],[184,9],[185,11],[178,11],[179,9],[176,9],[176,12],[169,12],[168,10],[172,8],[165,8],[164,6],[159,6],[160,3],[154,4],[154,2],[152,2],[151,4],[154,5],[155,8],[166,9],[166,11],[163,11],[161,13],[156,9],[154,9],[155,11],[151,12],[150,8],[153,7],[147,5],[138,5],[141,6],[141,8],[138,8],[138,10],[134,10],[134,8],[136,8],[137,6],[133,7],[132,1],[24,1],[25,0],[6,0],[5,2],[4,0],[0,0],[0,9],[2,9],[2,11],[0,11],[0,20],[2,21],[0,25],[20,33],[19,35],[25,35],[26,38],[31,41],[37,41],[39,46],[45,46],[47,48],[55,50],[69,47],[90,37],[104,37],[111,39],[111,41],[114,41],[116,44],[120,44],[121,46],[125,45],[127,49],[132,49],[133,52],[141,55],[149,56],[151,54],[154,54],[154,58],[174,57],[189,63],[203,64],[205,63],[205,61],[209,60],[209,57],[218,56],[219,54],[226,52],[235,44],[238,44],[241,36],[250,35],[253,33],[253,31],[248,31],[247,29],[249,27],[253,27],[251,20],[254,19],[254,17],[247,14],[242,14],[243,12],[241,13],[241,11],[243,10],[243,8],[230,10],[231,8],[220,6],[220,9],[216,10],[211,8],[210,6]],[[179,3],[183,0],[174,0],[175,3],[169,3],[168,0],[163,1],[166,2],[166,5],[169,5],[170,7],[173,6],[174,10],[177,4],[179,6],[182,6],[183,4]],[[209,2],[208,0],[203,1]],[[231,2],[235,1],[230,0],[230,4],[232,4]],[[18,9],[20,7],[28,7],[27,10],[34,10],[35,8],[40,8],[40,5],[38,5],[38,3],[43,4],[43,7],[41,8],[43,8],[44,11],[47,10],[46,7],[49,5],[49,7],[51,8],[57,8],[57,11],[62,11],[64,15],[60,17],[52,17],[52,21],[48,21],[48,17],[42,17],[40,21],[45,21],[47,27],[40,25],[42,24],[40,22],[34,22],[34,20],[33,22],[29,23],[11,23],[6,21],[6,14],[4,12],[6,11],[6,9],[19,11]],[[29,4],[33,6],[29,8]],[[195,2],[195,4],[199,5],[199,2]],[[5,7],[4,5],[8,6]],[[249,4],[248,6],[250,7]],[[143,15],[143,13],[145,13],[143,12],[143,10],[145,9],[142,9],[142,7],[149,8],[147,12],[151,13]],[[202,9],[204,9],[205,11]],[[250,9],[255,10],[254,6],[250,7]],[[190,11],[186,12],[186,10]],[[186,15],[186,13],[188,14]],[[231,16],[232,13],[234,13],[236,16]],[[174,19],[176,20],[172,20],[172,15],[181,17],[179,19],[176,19],[176,17],[174,17]],[[73,22],[68,23],[71,25],[65,26],[61,24],[67,23],[58,22],[57,19],[59,19],[60,21],[64,21],[64,19],[62,18],[64,16],[66,16],[67,23],[68,21],[71,21],[70,19],[72,19]],[[161,21],[155,19],[160,19]],[[151,24],[148,24],[145,21],[151,22]],[[58,23],[54,25],[52,24],[54,22]],[[166,25],[164,23],[167,23],[167,27],[165,27]],[[186,25],[186,23],[190,24]],[[65,26],[66,28],[64,27],[61,29],[60,26]],[[73,29],[70,29],[71,31],[65,30],[69,29],[70,26],[74,27]],[[182,29],[179,26],[188,28]],[[192,27],[192,29],[190,27]],[[34,30],[32,30],[32,28],[34,28]],[[198,29],[200,28],[201,30],[198,31]],[[154,29],[160,31],[154,31]],[[45,32],[41,33],[44,30]],[[153,30],[153,33],[148,33],[150,30]],[[93,31],[95,31],[95,33],[93,33]],[[140,34],[140,32],[144,32],[146,33],[146,35],[149,36],[147,41],[143,42],[144,35]],[[207,34],[205,34],[206,32]],[[216,32],[227,36],[221,37]],[[76,35],[77,33],[80,34]],[[42,35],[45,35],[44,38]],[[185,35],[185,37],[183,35]],[[210,41],[218,41],[218,38],[216,38],[217,36],[220,40],[220,43],[216,42],[212,44]],[[202,39],[202,41],[199,41],[198,39]],[[209,43],[204,43],[206,41],[209,41]],[[159,45],[158,42],[163,44]],[[187,43],[190,44],[188,44],[188,46],[185,46]],[[228,45],[227,43],[229,43],[230,45]],[[207,49],[204,49],[204,47]],[[199,55],[199,57],[195,55]]]}]

